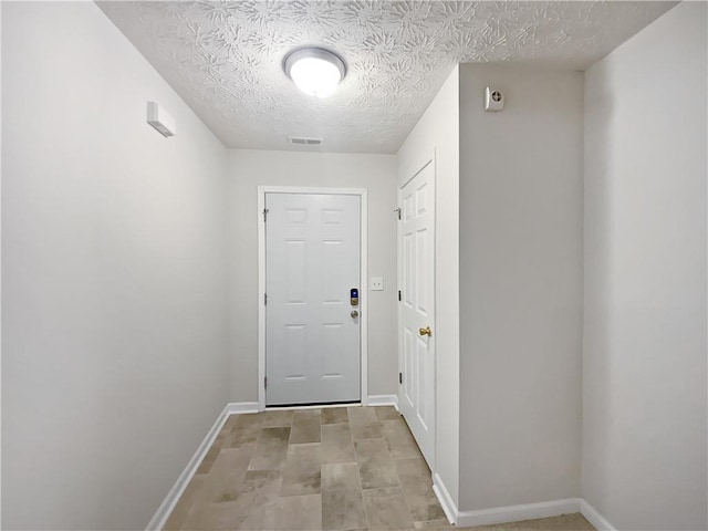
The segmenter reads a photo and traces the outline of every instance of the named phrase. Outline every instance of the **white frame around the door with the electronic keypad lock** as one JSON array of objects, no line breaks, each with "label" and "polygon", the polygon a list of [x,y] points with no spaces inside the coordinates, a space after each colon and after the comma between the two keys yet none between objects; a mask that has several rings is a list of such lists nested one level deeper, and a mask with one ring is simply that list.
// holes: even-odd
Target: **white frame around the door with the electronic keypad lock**
[{"label": "white frame around the door with the electronic keypad lock", "polygon": [[266,409],[266,194],[324,194],[358,196],[360,199],[360,324],[361,393],[362,405],[368,403],[368,257],[367,257],[367,190],[366,188],[334,188],[305,186],[258,187],[258,408]]}]

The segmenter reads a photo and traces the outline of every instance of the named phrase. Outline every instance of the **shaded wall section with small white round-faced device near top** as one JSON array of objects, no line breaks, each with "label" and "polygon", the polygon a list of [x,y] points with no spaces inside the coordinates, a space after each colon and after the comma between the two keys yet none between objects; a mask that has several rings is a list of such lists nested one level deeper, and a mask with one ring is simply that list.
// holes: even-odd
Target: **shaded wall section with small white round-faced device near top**
[{"label": "shaded wall section with small white round-faced device near top", "polygon": [[582,73],[460,66],[462,511],[580,494],[582,149]]}]

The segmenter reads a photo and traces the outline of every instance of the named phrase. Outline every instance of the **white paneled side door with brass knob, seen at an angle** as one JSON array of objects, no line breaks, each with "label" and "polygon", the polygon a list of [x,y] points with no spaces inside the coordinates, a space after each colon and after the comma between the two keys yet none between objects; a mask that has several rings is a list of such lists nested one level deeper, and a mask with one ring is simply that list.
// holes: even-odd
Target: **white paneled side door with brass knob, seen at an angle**
[{"label": "white paneled side door with brass knob, seen at an angle", "polygon": [[435,456],[435,165],[399,191],[403,413],[420,451]]}]

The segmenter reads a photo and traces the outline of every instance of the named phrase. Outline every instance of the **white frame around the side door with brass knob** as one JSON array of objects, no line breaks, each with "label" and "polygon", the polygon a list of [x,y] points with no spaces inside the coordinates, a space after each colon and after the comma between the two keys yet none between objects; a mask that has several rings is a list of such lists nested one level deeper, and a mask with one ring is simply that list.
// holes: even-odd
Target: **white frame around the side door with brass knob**
[{"label": "white frame around the side door with brass knob", "polygon": [[[437,150],[433,149],[431,152],[428,152],[427,154],[425,154],[424,156],[419,157],[415,165],[409,165],[407,167],[404,168],[404,171],[406,171],[405,174],[399,174],[399,178],[398,178],[398,183],[396,186],[396,202],[398,205],[398,208],[403,209],[403,205],[402,205],[402,200],[400,200],[400,191],[406,187],[406,185],[408,183],[410,183],[413,179],[415,179],[418,174],[420,171],[423,171],[425,168],[427,168],[428,166],[433,165],[433,179],[434,179],[434,186],[435,186],[435,194],[433,197],[433,200],[435,201],[435,216],[433,218],[433,237],[435,238],[435,246],[433,246],[433,299],[435,301],[435,311],[433,312],[433,330],[437,331],[437,282],[436,282],[436,272],[437,272],[437,215],[438,215],[438,204],[437,204],[437,190],[438,190],[438,167],[437,167]],[[403,210],[400,211],[403,212]],[[400,227],[400,222],[398,222],[396,225],[396,259],[398,261],[398,267],[397,267],[397,274],[398,274],[398,279],[397,279],[397,289],[398,290],[403,290],[403,232],[402,232],[402,227]],[[402,304],[397,304],[397,330],[396,330],[396,341],[398,343],[398,373],[403,372],[403,356],[404,356],[404,352],[403,352],[403,308]],[[433,337],[430,337],[430,340],[436,341],[435,335]],[[438,397],[437,397],[437,388],[438,388],[438,378],[437,378],[437,372],[438,372],[438,354],[437,354],[437,341],[436,341],[436,348],[435,348],[435,364],[434,364],[434,372],[435,374],[433,375],[433,399],[435,400],[433,410],[435,412],[435,419],[433,421],[433,456],[431,456],[431,461],[433,462],[428,462],[428,468],[430,469],[430,472],[433,475],[435,475],[435,472],[437,471],[436,469],[436,464],[437,464],[437,448],[438,448]],[[399,385],[398,386],[398,393],[397,393],[397,397],[398,397],[398,404],[403,403],[403,387]]]}]

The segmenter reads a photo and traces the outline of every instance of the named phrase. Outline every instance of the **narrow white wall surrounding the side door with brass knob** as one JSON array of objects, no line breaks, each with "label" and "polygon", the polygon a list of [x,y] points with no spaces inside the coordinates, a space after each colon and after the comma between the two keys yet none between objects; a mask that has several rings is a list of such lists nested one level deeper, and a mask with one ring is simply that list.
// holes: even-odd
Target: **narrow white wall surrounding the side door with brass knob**
[{"label": "narrow white wall surrounding the side door with brass knob", "polygon": [[398,150],[398,186],[436,155],[434,473],[458,502],[459,467],[459,69],[455,67]]}]

